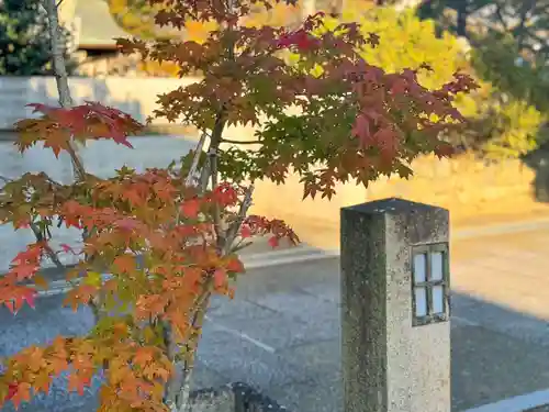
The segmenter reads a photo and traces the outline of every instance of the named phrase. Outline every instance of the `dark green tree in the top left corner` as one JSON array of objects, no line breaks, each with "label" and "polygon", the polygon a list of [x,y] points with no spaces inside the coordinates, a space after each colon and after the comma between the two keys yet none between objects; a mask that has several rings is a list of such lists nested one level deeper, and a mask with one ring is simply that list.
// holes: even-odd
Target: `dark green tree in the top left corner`
[{"label": "dark green tree in the top left corner", "polygon": [[[69,33],[63,30],[67,44]],[[68,69],[75,65],[67,57]],[[46,12],[36,0],[0,1],[0,75],[52,75]]]}]

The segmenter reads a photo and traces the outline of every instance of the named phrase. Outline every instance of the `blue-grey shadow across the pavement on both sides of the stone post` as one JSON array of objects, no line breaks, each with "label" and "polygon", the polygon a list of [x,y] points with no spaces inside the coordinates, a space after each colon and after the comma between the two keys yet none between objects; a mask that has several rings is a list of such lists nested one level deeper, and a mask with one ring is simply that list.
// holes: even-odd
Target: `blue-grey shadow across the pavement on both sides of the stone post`
[{"label": "blue-grey shadow across the pavement on both sides of the stone post", "polygon": [[[290,411],[341,412],[338,266],[329,258],[250,270],[234,301],[216,299],[194,387],[244,381]],[[43,298],[37,310],[25,308],[16,316],[1,309],[0,357],[92,326],[89,311],[74,313],[60,301]],[[549,387],[547,320],[455,292],[451,337],[452,411]],[[58,379],[48,396],[20,410],[92,412],[99,380],[83,399],[66,383]]]}]

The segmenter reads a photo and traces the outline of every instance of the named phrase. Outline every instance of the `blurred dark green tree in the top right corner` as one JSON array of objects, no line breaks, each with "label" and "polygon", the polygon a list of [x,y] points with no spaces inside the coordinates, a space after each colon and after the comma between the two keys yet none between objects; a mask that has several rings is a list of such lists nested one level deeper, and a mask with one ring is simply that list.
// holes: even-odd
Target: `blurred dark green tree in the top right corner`
[{"label": "blurred dark green tree in the top right corner", "polygon": [[548,109],[548,0],[424,0],[417,12],[469,41],[479,77]]}]

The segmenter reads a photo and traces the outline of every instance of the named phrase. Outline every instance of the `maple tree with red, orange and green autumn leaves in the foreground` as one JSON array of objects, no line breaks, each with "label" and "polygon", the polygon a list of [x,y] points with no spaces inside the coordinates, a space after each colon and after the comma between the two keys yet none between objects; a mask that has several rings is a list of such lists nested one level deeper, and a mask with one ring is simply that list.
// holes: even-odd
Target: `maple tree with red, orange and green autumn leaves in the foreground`
[{"label": "maple tree with red, orange and green autumn leaves in the foreground", "polygon": [[[36,242],[0,279],[0,302],[13,312],[34,305],[36,288],[47,287],[42,263],[64,267],[59,256],[72,254],[79,261],[67,270],[74,288],[66,304],[91,307],[97,323],[86,336],[58,337],[3,359],[0,402],[19,404],[47,391],[61,371],[81,392],[101,370],[100,411],[184,411],[204,313],[212,294],[233,296],[244,272],[238,252],[256,235],[270,236],[273,247],[281,238],[299,242],[284,222],[249,214],[254,182],[283,182],[295,172],[304,197],[332,198],[336,182],[408,176],[414,157],[451,153],[440,132],[463,122],[453,98],[475,87],[461,74],[433,90],[414,70],[386,74],[360,57],[366,45],[376,46],[376,34],[363,35],[354,22],[327,27],[323,13],[289,29],[239,24],[253,5],[271,8],[269,0],[148,4],[160,26],[216,24],[203,42],[119,40],[125,53],[176,63],[180,76],[202,74],[199,82],[160,94],[155,115],[203,134],[166,168],[121,166],[111,178],[93,176],[76,145],[108,138],[131,147],[128,136],[143,125],[98,102],[72,104],[63,60],[54,59],[61,105],[31,104],[40,116],[16,123],[16,144],[21,152],[36,144],[67,152],[75,180],[25,174],[2,188],[0,220],[30,227]],[[227,138],[234,124],[255,125],[255,140]],[[259,148],[245,151],[247,143]],[[55,250],[54,225],[80,230],[81,247]]]}]

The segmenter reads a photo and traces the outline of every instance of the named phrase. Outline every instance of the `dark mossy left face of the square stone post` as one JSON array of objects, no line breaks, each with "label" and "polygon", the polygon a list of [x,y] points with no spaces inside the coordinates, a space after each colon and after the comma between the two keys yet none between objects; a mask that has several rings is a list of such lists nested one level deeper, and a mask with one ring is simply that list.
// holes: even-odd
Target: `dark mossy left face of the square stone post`
[{"label": "dark mossy left face of the square stone post", "polygon": [[345,409],[388,410],[385,218],[341,210],[341,333]]}]

